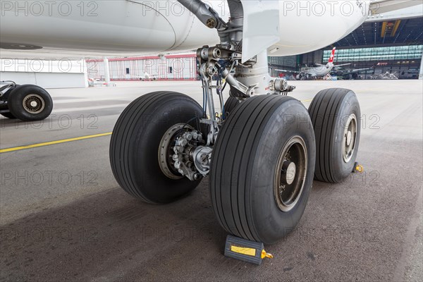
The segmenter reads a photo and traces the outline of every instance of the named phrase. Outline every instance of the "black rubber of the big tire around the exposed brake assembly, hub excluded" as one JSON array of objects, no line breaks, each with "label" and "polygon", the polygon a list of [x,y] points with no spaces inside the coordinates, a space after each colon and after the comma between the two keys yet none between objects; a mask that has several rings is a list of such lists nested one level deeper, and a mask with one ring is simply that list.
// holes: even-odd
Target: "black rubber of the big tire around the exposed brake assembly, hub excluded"
[{"label": "black rubber of the big tire around the exposed brake assembly, hub excluded", "polygon": [[165,204],[195,189],[201,180],[165,176],[158,152],[169,128],[178,123],[197,128],[196,117],[202,117],[201,106],[177,92],[152,92],[132,102],[118,118],[110,143],[111,169],[123,190],[145,202]]}]

